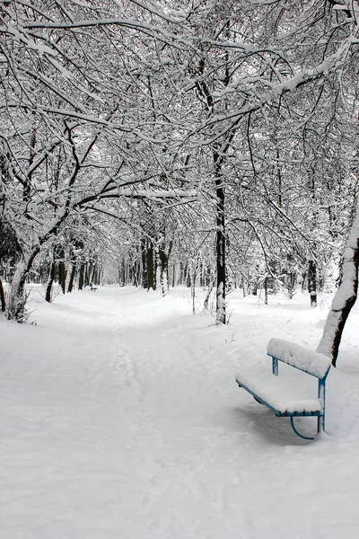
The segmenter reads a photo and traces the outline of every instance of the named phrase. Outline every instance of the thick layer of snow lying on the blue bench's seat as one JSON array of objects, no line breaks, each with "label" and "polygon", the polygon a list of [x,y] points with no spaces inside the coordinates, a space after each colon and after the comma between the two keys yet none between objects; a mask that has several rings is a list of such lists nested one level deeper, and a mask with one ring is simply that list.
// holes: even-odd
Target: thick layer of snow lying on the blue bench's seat
[{"label": "thick layer of snow lying on the blue bench's seat", "polygon": [[306,397],[301,391],[296,390],[295,386],[288,385],[288,380],[267,372],[264,366],[241,367],[236,375],[236,381],[280,414],[300,415],[322,411],[320,399]]}]

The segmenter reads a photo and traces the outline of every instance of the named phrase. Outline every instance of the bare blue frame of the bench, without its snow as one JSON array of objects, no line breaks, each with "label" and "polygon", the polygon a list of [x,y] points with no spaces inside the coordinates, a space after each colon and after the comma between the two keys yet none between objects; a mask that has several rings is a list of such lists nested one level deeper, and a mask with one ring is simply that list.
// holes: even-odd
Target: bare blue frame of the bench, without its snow
[{"label": "bare blue frame of the bench, without its snow", "polygon": [[269,353],[267,354],[267,356],[272,358],[272,373],[273,373],[274,376],[278,376],[278,361],[282,361],[286,365],[290,365],[290,367],[297,368],[298,370],[300,370],[300,371],[302,371],[302,372],[304,372],[304,373],[306,373],[308,375],[311,375],[311,376],[314,376],[314,377],[318,378],[318,398],[320,399],[320,402],[321,402],[321,411],[285,411],[285,412],[278,411],[271,404],[268,404],[264,399],[262,399],[262,397],[260,397],[258,394],[253,393],[248,387],[246,387],[246,385],[242,384],[238,380],[238,378],[236,379],[237,384],[240,387],[242,387],[243,389],[245,389],[246,391],[248,391],[248,393],[250,393],[254,397],[254,399],[257,402],[259,402],[259,404],[263,404],[264,406],[267,406],[267,408],[269,408],[269,410],[274,411],[277,417],[282,417],[282,418],[283,417],[289,417],[290,421],[291,421],[291,427],[292,427],[293,431],[295,432],[295,434],[297,436],[302,437],[305,440],[313,440],[314,439],[313,437],[306,437],[306,436],[303,436],[300,432],[298,432],[298,430],[294,426],[293,418],[294,417],[313,417],[313,416],[318,417],[318,429],[317,429],[317,431],[318,431],[318,433],[320,433],[322,431],[323,432],[325,431],[326,380],[327,380],[327,376],[328,376],[330,367],[328,368],[328,371],[326,372],[325,376],[320,377],[320,376],[314,375],[313,373],[309,372],[308,370],[306,370],[304,368],[299,368],[299,367],[295,367],[294,365],[288,364],[283,359],[276,358],[275,356],[272,356]]}]

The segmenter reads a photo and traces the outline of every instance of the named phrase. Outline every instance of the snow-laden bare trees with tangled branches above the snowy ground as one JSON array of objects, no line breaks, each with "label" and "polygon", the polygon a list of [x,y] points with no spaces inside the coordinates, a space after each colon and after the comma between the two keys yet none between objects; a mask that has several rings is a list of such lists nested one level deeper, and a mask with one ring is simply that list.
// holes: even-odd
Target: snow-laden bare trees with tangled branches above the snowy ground
[{"label": "snow-laden bare trees with tangled branches above the snowy ground", "polygon": [[171,260],[215,281],[218,323],[228,279],[301,275],[314,305],[355,213],[358,21],[355,0],[1,0],[8,316],[44,257],[65,290],[116,250],[163,294]]}]

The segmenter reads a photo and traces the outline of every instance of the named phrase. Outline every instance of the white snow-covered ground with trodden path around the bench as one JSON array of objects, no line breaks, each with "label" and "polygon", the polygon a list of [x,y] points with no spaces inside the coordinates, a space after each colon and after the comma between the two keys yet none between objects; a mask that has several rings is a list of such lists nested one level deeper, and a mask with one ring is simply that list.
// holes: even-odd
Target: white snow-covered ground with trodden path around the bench
[{"label": "white snow-covered ground with trodden path around the bench", "polygon": [[328,308],[308,303],[239,293],[216,327],[185,288],[48,305],[34,287],[30,323],[0,317],[1,539],[356,539],[359,310],[328,436],[295,437],[234,382],[241,361],[269,361],[270,337],[315,349]]}]

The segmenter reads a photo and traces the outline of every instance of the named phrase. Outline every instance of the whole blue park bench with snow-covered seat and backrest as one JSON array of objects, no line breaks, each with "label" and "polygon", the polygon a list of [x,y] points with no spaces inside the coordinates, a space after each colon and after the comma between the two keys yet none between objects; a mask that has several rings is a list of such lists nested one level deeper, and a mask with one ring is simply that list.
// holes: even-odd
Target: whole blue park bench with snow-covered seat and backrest
[{"label": "whole blue park bench with snow-covered seat and backrest", "polygon": [[[325,385],[331,367],[330,358],[282,339],[269,340],[267,355],[272,358],[272,373],[263,367],[241,367],[236,375],[237,384],[260,404],[273,410],[276,416],[289,417],[295,434],[313,439],[302,436],[295,429],[293,417],[317,416],[318,432],[325,429]],[[278,376],[278,361],[318,378],[317,398],[304,395],[297,380]]]}]

